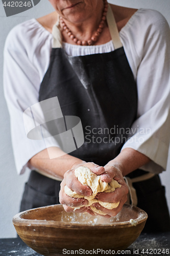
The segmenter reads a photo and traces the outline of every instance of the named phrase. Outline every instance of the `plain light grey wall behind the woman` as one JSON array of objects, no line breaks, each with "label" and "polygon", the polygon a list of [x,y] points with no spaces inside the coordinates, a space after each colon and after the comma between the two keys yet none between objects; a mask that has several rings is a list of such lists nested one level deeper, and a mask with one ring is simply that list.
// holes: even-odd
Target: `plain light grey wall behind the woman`
[{"label": "plain light grey wall behind the woman", "polygon": [[[8,2],[8,1],[7,1]],[[149,8],[160,11],[170,24],[169,0],[110,0],[110,3],[132,8]],[[54,11],[47,0],[41,0],[34,8],[20,14],[6,17],[2,1],[0,3],[0,238],[16,237],[12,224],[12,217],[19,211],[19,204],[23,192],[24,183],[28,179],[29,172],[18,176],[16,174],[10,137],[10,120],[7,105],[3,93],[3,49],[5,38],[9,31],[17,24],[30,18],[37,18]],[[170,158],[170,157],[169,157]],[[161,174],[162,183],[166,186],[166,196],[170,208],[170,159],[167,171]],[[156,214],[156,213],[155,213]]]}]

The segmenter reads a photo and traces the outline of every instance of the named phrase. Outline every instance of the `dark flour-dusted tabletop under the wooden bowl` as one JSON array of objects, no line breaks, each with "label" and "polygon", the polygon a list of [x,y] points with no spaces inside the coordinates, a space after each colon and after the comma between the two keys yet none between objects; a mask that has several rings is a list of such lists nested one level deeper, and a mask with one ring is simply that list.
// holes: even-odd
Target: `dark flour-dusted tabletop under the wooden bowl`
[{"label": "dark flour-dusted tabletop under the wooden bowl", "polygon": [[[108,248],[109,250],[109,248]],[[106,252],[107,253],[107,252]],[[113,254],[93,255],[113,255]],[[60,254],[78,255],[78,254]],[[82,254],[83,255],[83,254]],[[90,254],[84,254],[90,255]],[[142,233],[140,237],[126,250],[118,252],[117,255],[139,255],[139,256],[169,256],[170,255],[170,232],[167,233]],[[19,238],[0,239],[0,256],[40,256]]]}]

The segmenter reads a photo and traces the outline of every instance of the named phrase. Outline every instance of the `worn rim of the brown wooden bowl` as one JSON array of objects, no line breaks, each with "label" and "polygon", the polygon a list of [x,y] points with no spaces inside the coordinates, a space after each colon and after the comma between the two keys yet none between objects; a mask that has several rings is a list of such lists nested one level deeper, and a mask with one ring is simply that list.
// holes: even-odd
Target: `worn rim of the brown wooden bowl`
[{"label": "worn rim of the brown wooden bowl", "polygon": [[29,209],[29,210],[25,210],[25,211],[21,211],[18,214],[16,214],[13,219],[13,225],[14,226],[53,226],[53,227],[65,227],[65,228],[78,228],[78,227],[95,227],[95,228],[108,228],[108,227],[129,227],[129,226],[136,226],[141,222],[144,222],[148,219],[148,214],[147,212],[145,212],[144,210],[140,209],[137,206],[134,205],[130,205],[130,204],[124,204],[123,207],[131,207],[134,210],[138,211],[139,217],[136,219],[132,219],[134,220],[134,222],[132,221],[132,223],[129,221],[124,221],[124,222],[112,222],[112,223],[68,223],[68,222],[61,222],[61,221],[56,221],[56,220],[32,220],[32,219],[22,219],[21,217],[23,215],[26,215],[27,213],[29,213],[30,211],[35,211],[35,210],[39,210],[39,209],[43,209],[43,208],[53,208],[53,207],[61,207],[61,204],[54,204],[54,205],[48,205],[48,206],[43,206],[43,207],[38,207],[38,208],[33,208],[33,209]]}]

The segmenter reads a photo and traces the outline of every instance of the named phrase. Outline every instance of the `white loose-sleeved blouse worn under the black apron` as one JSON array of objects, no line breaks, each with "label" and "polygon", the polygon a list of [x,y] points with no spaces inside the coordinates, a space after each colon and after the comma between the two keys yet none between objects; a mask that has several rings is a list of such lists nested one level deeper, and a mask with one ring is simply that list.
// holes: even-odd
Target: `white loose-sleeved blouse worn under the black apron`
[{"label": "white loose-sleeved blouse worn under the black apron", "polygon": [[[153,173],[166,169],[170,133],[170,32],[165,18],[157,11],[139,9],[119,32],[129,65],[137,82],[137,120],[131,147],[152,161],[141,168]],[[79,56],[114,50],[112,41],[99,46],[63,43],[68,55]],[[4,91],[11,118],[11,136],[18,174],[45,149],[42,140],[28,139],[23,112],[38,102],[41,81],[50,63],[52,34],[36,19],[14,27],[4,49]],[[52,142],[51,146],[58,146]]]}]

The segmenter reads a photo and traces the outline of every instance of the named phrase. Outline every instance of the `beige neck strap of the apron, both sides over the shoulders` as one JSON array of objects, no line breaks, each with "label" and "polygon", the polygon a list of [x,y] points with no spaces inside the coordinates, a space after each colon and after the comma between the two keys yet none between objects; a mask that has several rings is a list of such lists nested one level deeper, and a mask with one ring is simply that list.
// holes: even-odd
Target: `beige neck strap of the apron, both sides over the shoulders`
[{"label": "beige neck strap of the apron, both sides over the shoulders", "polygon": [[[113,41],[114,49],[122,47],[122,42],[120,41],[116,21],[115,21],[110,4],[108,5],[107,23],[108,23],[110,35]],[[52,35],[53,35],[53,48],[62,48],[62,36],[60,31],[59,16],[58,16],[57,23],[53,26]]]}]

